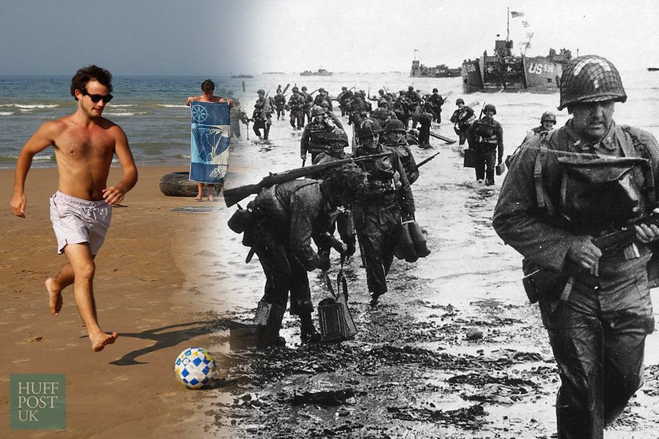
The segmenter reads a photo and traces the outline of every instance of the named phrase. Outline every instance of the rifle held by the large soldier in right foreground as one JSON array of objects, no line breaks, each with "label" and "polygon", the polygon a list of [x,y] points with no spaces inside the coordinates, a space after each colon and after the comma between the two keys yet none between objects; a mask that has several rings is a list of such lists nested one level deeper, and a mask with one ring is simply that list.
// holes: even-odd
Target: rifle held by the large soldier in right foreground
[{"label": "rifle held by the large soldier in right foreground", "polygon": [[[597,238],[593,238],[592,243],[601,250],[602,255],[613,255],[623,250],[625,257],[628,259],[638,257],[638,249],[635,245],[635,226],[642,224],[659,225],[659,214],[653,212],[649,216],[636,221],[633,225],[604,232],[597,236]],[[597,264],[595,264],[593,269],[597,270]],[[524,290],[527,292],[531,303],[537,302],[538,298],[542,295],[556,291],[555,289],[557,286],[562,289],[560,300],[567,300],[570,295],[570,290],[572,289],[572,284],[574,284],[574,275],[556,273],[554,270],[549,270],[549,268],[538,268],[528,275],[525,275],[522,278],[522,284],[524,284]]]}]

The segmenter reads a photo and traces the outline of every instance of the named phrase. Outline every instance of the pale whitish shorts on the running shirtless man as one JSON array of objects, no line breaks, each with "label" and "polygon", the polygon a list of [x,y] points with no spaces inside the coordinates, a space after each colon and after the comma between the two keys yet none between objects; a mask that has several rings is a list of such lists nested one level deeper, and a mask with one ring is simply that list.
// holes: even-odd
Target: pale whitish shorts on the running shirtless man
[{"label": "pale whitish shorts on the running shirtless man", "polygon": [[92,255],[96,255],[105,241],[111,219],[112,206],[105,200],[83,200],[60,191],[51,196],[51,222],[60,255],[67,244],[84,242],[89,243]]}]

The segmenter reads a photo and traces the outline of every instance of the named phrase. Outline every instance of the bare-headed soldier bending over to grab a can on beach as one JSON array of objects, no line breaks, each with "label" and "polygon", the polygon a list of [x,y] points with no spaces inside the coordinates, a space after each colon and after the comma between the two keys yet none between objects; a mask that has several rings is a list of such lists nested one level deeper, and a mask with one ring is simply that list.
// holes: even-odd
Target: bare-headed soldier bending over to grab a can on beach
[{"label": "bare-headed soldier bending over to grab a can on beach", "polygon": [[253,250],[266,275],[262,302],[271,304],[267,324],[259,325],[260,345],[284,342],[279,331],[289,292],[290,313],[300,318],[300,340],[320,341],[311,320],[314,307],[307,271],[329,269],[329,259],[319,257],[311,240],[319,248],[329,247],[326,232],[336,208],[350,204],[354,194],[363,191],[364,178],[358,166],[346,164],[323,181],[293,180],[264,188],[250,203]]}]

